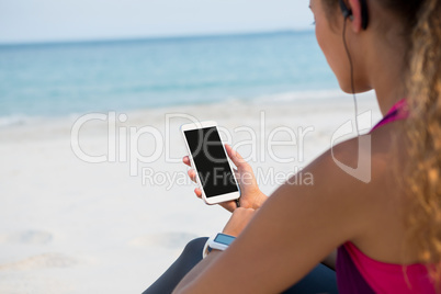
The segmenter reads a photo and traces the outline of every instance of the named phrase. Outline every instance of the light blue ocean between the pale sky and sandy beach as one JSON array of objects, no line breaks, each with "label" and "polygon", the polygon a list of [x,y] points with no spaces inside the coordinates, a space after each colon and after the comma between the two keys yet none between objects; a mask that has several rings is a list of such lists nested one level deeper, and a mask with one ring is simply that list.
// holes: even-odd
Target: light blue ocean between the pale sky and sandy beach
[{"label": "light blue ocean between the pale sky and sandy beach", "polygon": [[0,126],[337,89],[313,31],[0,46]]}]

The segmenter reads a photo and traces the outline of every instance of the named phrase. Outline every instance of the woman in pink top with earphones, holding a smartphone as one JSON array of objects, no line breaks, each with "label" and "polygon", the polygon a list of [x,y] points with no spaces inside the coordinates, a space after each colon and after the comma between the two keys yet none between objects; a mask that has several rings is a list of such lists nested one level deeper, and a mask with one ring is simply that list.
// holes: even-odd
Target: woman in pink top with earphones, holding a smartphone
[{"label": "woman in pink top with earphones, holding a smartphone", "polygon": [[[236,240],[195,267],[177,262],[156,285],[169,279],[172,287],[180,281],[174,293],[281,293],[312,270],[332,280],[316,265],[332,263],[337,250],[340,293],[440,292],[441,1],[312,0],[310,9],[341,89],[376,92],[385,118],[368,135],[371,148],[359,148],[363,136],[335,146],[302,171],[313,186],[287,182],[268,200],[255,181],[242,182],[240,208],[224,205],[234,211],[224,233]],[[252,173],[227,151],[239,177]],[[371,181],[332,157],[351,167],[370,160]],[[181,258],[201,255],[204,240],[194,244]]]}]

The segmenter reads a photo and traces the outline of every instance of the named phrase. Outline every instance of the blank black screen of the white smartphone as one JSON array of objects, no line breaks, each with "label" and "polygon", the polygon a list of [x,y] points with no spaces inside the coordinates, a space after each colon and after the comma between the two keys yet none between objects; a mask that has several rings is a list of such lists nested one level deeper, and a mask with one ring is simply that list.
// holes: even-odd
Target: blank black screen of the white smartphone
[{"label": "blank black screen of the white smartphone", "polygon": [[184,135],[205,195],[238,192],[217,128],[184,131]]}]

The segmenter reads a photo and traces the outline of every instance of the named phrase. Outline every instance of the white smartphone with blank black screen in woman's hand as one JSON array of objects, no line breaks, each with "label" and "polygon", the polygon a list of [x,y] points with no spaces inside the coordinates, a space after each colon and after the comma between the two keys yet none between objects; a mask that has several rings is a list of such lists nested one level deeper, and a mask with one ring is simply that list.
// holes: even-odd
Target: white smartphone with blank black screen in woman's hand
[{"label": "white smartphone with blank black screen in woman's hand", "polygon": [[220,140],[217,124],[185,124],[181,131],[205,203],[217,204],[239,199],[239,184]]}]

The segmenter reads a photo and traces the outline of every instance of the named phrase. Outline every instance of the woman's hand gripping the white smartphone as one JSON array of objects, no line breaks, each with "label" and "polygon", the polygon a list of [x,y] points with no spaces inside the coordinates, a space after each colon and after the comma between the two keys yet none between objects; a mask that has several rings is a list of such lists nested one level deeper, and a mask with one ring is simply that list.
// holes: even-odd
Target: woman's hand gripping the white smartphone
[{"label": "woman's hand gripping the white smartphone", "polygon": [[[237,170],[235,169],[235,174],[240,185],[240,207],[253,210],[259,208],[268,196],[260,191],[252,168],[237,151],[233,150],[231,146],[225,145],[225,149],[227,150],[228,157],[237,167]],[[191,167],[190,158],[188,156],[183,157],[182,161]],[[190,179],[193,182],[196,182],[196,172],[193,169],[190,169],[188,173]],[[197,197],[202,196],[200,188],[194,189],[194,193]],[[219,205],[229,212],[234,212],[237,208],[235,201],[223,202],[219,203]]]}]

